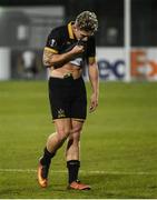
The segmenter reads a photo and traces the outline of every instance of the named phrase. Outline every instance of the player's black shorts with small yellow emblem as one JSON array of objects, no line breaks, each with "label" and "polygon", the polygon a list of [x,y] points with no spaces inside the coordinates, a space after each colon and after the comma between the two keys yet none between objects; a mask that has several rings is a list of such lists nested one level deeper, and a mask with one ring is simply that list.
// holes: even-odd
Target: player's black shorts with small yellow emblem
[{"label": "player's black shorts with small yellow emblem", "polygon": [[49,79],[52,119],[72,118],[84,121],[87,116],[87,93],[82,78]]}]

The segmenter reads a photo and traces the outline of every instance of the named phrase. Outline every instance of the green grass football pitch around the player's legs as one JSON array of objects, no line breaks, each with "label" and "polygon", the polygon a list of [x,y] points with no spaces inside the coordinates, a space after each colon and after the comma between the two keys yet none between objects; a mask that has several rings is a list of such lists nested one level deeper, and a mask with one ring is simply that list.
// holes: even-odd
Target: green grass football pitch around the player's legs
[{"label": "green grass football pitch around the player's legs", "polygon": [[100,83],[99,107],[81,136],[79,177],[90,191],[67,190],[66,143],[49,187],[37,183],[38,159],[55,131],[47,97],[47,81],[0,82],[0,199],[157,198],[157,82]]}]

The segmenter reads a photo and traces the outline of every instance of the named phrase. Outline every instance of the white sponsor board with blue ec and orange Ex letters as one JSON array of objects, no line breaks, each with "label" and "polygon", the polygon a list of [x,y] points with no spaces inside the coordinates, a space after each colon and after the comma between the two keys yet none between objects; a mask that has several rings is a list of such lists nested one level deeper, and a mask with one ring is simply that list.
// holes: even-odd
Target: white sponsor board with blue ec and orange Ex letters
[{"label": "white sponsor board with blue ec and orange Ex letters", "polygon": [[133,48],[130,69],[126,69],[125,48],[97,48],[100,80],[157,80],[157,48]]}]

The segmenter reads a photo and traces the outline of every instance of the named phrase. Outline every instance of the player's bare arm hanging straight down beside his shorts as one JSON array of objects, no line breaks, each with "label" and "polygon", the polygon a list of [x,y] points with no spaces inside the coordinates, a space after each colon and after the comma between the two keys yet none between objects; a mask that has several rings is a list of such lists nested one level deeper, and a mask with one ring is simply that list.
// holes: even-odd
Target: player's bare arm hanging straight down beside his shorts
[{"label": "player's bare arm hanging straight down beside his shorts", "polygon": [[98,99],[99,99],[99,72],[98,72],[98,64],[95,59],[94,61],[90,61],[88,63],[88,74],[92,90],[90,97],[89,111],[92,112],[98,107]]}]

